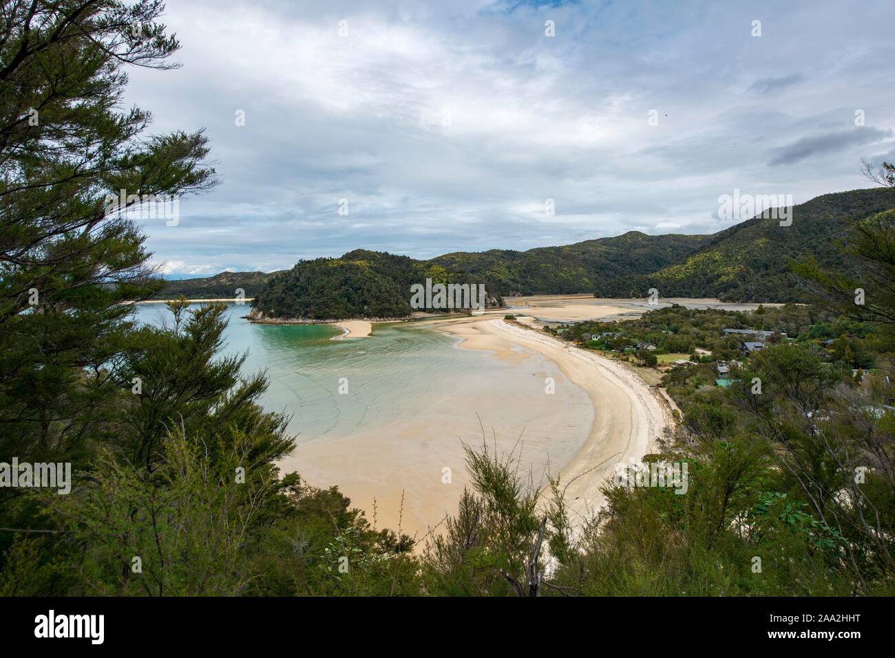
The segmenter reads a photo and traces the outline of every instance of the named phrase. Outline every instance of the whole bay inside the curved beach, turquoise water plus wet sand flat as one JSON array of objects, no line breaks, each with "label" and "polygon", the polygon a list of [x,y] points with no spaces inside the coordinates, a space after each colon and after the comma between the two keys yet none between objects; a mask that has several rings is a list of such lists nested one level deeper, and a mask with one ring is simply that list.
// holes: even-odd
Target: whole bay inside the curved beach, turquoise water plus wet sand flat
[{"label": "whole bay inside the curved beach, turquoise water plus wet sand flat", "polygon": [[[245,374],[268,374],[261,404],[291,416],[297,445],[283,472],[338,485],[371,517],[378,510],[385,527],[420,533],[456,510],[469,484],[463,443],[484,435],[502,454],[518,449],[521,472],[537,478],[567,463],[592,426],[587,394],[539,352],[518,347],[498,359],[425,323],[374,325],[369,338],[334,341],[335,326],[252,325],[248,311],[227,308],[225,351],[247,351]],[[158,325],[166,308],[136,313]],[[548,377],[556,394],[545,394]]]}]

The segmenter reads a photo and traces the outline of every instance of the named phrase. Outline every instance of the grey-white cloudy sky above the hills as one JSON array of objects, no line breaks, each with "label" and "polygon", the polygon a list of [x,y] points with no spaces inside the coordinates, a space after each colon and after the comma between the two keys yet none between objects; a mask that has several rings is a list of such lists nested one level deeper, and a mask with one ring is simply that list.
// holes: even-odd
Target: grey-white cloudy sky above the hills
[{"label": "grey-white cloudy sky above the hills", "polygon": [[799,203],[895,160],[891,0],[168,0],[165,21],[183,68],[133,71],[126,102],[206,128],[221,178],[146,224],[168,274],[717,232],[722,194]]}]

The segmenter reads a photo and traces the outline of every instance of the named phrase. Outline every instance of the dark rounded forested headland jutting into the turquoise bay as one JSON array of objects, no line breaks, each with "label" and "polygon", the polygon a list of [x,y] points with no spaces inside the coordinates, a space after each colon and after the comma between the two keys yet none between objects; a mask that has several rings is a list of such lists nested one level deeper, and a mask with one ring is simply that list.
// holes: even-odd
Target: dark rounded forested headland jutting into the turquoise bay
[{"label": "dark rounded forested headland jutting into the turquoise bay", "polygon": [[[472,274],[453,272],[431,262],[380,251],[355,249],[340,258],[299,261],[291,270],[277,273],[258,292],[252,316],[337,320],[345,318],[399,318],[412,311],[411,286],[432,283],[485,283]],[[489,291],[487,305],[502,306],[503,299]],[[423,308],[420,308],[422,310]]]}]

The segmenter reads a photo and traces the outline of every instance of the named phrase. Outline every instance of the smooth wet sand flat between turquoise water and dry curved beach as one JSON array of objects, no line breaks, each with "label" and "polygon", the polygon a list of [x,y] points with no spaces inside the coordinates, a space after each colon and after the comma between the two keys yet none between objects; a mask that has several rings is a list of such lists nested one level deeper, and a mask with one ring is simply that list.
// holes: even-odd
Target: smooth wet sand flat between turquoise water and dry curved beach
[{"label": "smooth wet sand flat between turquoise water and dry curved beach", "polygon": [[[456,513],[469,485],[464,443],[478,447],[485,438],[503,454],[518,451],[520,472],[531,471],[535,480],[544,479],[546,468],[555,475],[573,460],[592,433],[590,397],[549,358],[513,334],[492,328],[487,343],[478,341],[479,325],[502,319],[463,319],[465,323],[450,327],[453,336],[465,334],[454,349],[471,350],[477,344],[489,350],[482,352],[482,359],[499,359],[506,366],[507,377],[499,386],[456,389],[432,372],[428,380],[433,389],[413,398],[416,409],[410,417],[385,425],[362,423],[348,435],[305,442],[299,437],[295,451],[280,463],[284,472],[297,471],[311,485],[338,485],[377,527],[400,527],[423,540],[430,528],[439,531],[447,514]],[[436,327],[426,322],[419,328]],[[375,349],[375,343],[365,349]],[[556,395],[545,394],[547,377],[557,381]]]}]

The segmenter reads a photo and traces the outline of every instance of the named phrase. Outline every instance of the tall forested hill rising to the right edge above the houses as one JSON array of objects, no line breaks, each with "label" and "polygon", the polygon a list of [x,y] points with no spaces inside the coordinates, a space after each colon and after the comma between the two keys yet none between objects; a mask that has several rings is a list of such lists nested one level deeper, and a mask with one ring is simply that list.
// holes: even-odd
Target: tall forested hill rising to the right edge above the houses
[{"label": "tall forested hill rising to the right edge above the houses", "polygon": [[895,208],[895,190],[852,190],[815,197],[793,208],[792,224],[768,212],[715,233],[699,249],[652,274],[601,279],[597,297],[717,297],[725,301],[802,301],[789,264],[814,256],[823,266],[848,269],[837,249],[852,220]]}]

